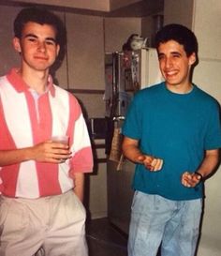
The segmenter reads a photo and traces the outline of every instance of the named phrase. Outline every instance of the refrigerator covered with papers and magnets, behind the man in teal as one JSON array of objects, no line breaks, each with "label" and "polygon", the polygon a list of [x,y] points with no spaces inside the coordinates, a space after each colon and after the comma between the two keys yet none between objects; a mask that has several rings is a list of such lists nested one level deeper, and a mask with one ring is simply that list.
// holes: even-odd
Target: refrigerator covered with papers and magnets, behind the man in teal
[{"label": "refrigerator covered with papers and magnets, behind the man in teal", "polygon": [[128,233],[130,206],[133,197],[131,180],[134,164],[125,160],[121,152],[121,127],[133,95],[140,89],[160,83],[154,48],[106,54],[106,116],[110,126],[106,148],[108,178],[108,218],[124,233]]}]

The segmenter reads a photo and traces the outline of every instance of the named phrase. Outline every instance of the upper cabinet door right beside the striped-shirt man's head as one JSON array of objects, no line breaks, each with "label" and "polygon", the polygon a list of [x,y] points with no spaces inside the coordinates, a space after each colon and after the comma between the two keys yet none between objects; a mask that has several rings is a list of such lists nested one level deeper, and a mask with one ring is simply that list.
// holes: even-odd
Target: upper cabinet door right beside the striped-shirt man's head
[{"label": "upper cabinet door right beside the striped-shirt man's head", "polygon": [[66,14],[68,87],[104,90],[103,18]]}]

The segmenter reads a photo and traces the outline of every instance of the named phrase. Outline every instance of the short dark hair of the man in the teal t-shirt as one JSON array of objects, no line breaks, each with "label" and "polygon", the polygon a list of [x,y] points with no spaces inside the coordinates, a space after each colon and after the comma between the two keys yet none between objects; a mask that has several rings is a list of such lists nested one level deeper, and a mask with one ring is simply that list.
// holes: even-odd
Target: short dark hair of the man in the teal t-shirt
[{"label": "short dark hair of the man in the teal t-shirt", "polygon": [[182,44],[187,56],[192,53],[196,53],[196,56],[198,56],[198,40],[195,34],[184,25],[171,23],[163,26],[155,35],[156,50],[160,43],[165,43],[169,40]]}]

